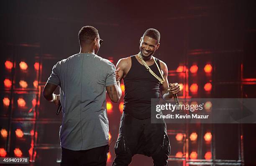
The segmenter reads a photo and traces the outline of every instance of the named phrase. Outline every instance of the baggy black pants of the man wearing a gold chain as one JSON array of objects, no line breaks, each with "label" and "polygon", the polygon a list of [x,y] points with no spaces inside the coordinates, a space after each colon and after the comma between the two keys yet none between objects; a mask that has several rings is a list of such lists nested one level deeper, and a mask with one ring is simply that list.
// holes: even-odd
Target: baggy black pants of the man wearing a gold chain
[{"label": "baggy black pants of the man wearing a gold chain", "polygon": [[140,120],[123,113],[112,166],[128,166],[135,154],[151,156],[154,166],[167,166],[170,144],[166,124],[153,124],[151,118]]}]

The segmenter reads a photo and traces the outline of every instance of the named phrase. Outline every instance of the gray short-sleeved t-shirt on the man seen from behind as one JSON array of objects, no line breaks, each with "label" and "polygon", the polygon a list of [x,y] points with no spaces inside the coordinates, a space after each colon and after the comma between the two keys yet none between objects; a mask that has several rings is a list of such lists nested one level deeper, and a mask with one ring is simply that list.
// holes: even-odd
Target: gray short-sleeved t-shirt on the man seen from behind
[{"label": "gray short-sleeved t-shirt on the man seen from behind", "polygon": [[79,151],[108,145],[106,87],[116,84],[114,64],[95,54],[75,54],[54,65],[47,83],[60,87],[61,147]]}]

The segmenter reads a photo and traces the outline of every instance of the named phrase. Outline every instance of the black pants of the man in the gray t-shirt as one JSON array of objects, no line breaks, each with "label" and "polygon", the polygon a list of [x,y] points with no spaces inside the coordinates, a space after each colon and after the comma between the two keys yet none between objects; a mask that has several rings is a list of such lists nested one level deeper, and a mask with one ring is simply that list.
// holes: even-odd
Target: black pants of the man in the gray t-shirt
[{"label": "black pants of the man in the gray t-shirt", "polygon": [[108,145],[84,151],[62,149],[61,166],[106,166]]}]

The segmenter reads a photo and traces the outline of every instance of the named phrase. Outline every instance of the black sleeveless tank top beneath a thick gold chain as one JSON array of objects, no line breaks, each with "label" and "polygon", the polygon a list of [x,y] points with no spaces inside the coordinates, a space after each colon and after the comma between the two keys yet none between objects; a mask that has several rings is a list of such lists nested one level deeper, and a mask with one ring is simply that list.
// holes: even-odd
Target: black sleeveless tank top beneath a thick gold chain
[{"label": "black sleeveless tank top beneath a thick gold chain", "polygon": [[[155,58],[155,60],[160,68],[159,59]],[[160,82],[138,62],[135,55],[131,56],[131,62],[131,69],[123,78],[125,85],[123,111],[137,119],[146,119],[151,117],[151,98],[159,98]],[[161,78],[156,64],[149,67]]]}]

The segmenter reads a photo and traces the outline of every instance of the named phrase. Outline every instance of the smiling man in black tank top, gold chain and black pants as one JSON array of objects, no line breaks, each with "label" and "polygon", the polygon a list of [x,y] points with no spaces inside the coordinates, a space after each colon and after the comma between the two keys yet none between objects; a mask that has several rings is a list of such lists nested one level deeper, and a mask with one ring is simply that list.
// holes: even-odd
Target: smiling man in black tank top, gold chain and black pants
[{"label": "smiling man in black tank top, gold chain and black pants", "polygon": [[128,166],[135,154],[151,156],[154,166],[167,166],[170,144],[166,124],[151,123],[151,98],[168,100],[179,93],[179,85],[168,84],[166,64],[153,57],[159,41],[159,31],[146,30],[139,54],[117,63],[116,79],[118,84],[123,79],[125,97],[112,166]]}]

